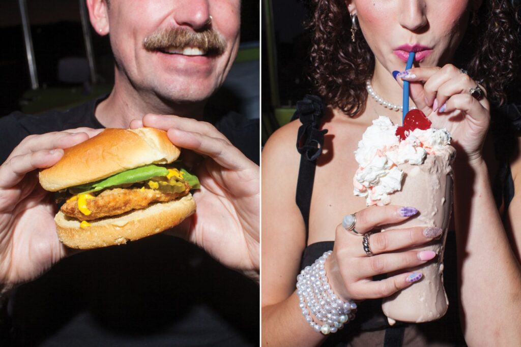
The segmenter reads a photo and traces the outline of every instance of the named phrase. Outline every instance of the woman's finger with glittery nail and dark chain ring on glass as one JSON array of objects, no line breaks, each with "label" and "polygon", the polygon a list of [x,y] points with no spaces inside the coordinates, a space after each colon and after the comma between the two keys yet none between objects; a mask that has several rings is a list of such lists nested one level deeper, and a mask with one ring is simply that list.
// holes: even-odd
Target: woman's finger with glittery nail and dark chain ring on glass
[{"label": "woman's finger with glittery nail and dark chain ring on glass", "polygon": [[[443,230],[438,227],[413,227],[407,229],[386,230],[369,236],[369,245],[373,254],[392,252],[414,246],[423,245],[441,235]],[[362,247],[353,248],[358,250],[360,256],[367,256]]]}]

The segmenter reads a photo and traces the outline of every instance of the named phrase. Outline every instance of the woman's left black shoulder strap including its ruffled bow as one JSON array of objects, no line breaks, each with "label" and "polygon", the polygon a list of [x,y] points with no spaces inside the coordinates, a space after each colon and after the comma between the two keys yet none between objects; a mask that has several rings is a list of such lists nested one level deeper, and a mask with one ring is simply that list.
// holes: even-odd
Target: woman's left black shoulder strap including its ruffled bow
[{"label": "woman's left black shoulder strap including its ruffled bow", "polygon": [[302,123],[296,142],[296,148],[301,154],[301,158],[295,200],[306,224],[306,245],[317,158],[322,152],[324,135],[327,133],[327,130],[319,130],[322,114],[324,114],[322,100],[318,96],[306,95],[303,100],[297,102],[292,118],[292,120],[298,118]]}]

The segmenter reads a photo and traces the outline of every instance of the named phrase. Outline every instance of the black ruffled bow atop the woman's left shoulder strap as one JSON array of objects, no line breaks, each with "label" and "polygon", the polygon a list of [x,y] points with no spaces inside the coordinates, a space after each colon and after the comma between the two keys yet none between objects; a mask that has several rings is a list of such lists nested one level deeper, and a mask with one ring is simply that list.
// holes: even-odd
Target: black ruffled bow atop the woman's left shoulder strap
[{"label": "black ruffled bow atop the woman's left shoulder strap", "polygon": [[306,95],[296,103],[292,119],[299,118],[302,125],[297,135],[296,149],[309,161],[314,161],[322,153],[324,135],[327,130],[319,130],[320,118],[324,114],[324,104],[316,95]]}]

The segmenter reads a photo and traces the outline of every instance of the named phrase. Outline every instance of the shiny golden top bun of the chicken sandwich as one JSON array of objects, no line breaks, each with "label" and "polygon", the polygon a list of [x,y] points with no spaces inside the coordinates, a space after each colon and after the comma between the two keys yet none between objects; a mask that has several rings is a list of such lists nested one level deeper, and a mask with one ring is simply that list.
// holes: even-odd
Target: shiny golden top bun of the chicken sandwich
[{"label": "shiny golden top bun of the chicken sandwich", "polygon": [[57,191],[147,164],[171,163],[179,153],[163,130],[107,128],[66,148],[60,161],[40,172],[40,184],[45,190]]}]

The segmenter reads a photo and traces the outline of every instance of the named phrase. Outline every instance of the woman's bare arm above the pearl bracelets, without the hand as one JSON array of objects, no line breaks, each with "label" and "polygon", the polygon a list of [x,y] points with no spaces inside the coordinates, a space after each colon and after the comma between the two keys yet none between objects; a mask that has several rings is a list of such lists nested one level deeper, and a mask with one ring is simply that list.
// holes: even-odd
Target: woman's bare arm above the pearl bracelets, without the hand
[{"label": "woman's bare arm above the pearl bracelets, without the hand", "polygon": [[302,316],[295,293],[305,224],[295,203],[298,121],[273,134],[262,157],[262,344],[313,346],[324,337]]}]

